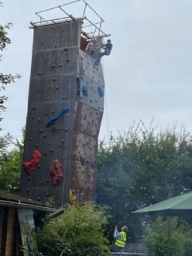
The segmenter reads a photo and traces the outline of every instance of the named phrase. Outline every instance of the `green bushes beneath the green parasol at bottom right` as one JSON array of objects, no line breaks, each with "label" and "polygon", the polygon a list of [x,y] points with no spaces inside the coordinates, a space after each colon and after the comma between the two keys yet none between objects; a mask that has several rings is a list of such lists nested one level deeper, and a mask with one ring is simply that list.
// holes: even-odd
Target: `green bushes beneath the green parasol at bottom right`
[{"label": "green bushes beneath the green parasol at bottom right", "polygon": [[187,223],[180,223],[177,218],[170,220],[170,238],[167,236],[167,222],[156,219],[149,229],[144,241],[149,255],[153,252],[158,256],[191,255],[192,229]]}]

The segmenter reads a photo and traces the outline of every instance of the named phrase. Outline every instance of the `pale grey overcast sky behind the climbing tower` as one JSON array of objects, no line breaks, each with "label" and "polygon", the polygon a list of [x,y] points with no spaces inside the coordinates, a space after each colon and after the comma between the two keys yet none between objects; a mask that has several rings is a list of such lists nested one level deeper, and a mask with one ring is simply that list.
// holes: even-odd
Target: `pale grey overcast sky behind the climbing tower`
[{"label": "pale grey overcast sky behind the climbing tower", "polygon": [[[12,43],[3,51],[0,72],[21,74],[5,94],[9,101],[1,123],[3,133],[22,137],[26,124],[33,46],[30,22],[43,9],[63,5],[62,0],[5,0],[0,24],[12,22]],[[139,119],[149,126],[184,125],[192,132],[192,1],[191,0],[87,0],[105,19],[111,33],[111,55],[103,57],[106,106],[99,139],[108,130],[128,130]],[[75,11],[74,11],[75,13]],[[72,13],[73,14],[73,13]],[[91,17],[90,17],[91,18]],[[108,121],[107,121],[108,120]]]}]

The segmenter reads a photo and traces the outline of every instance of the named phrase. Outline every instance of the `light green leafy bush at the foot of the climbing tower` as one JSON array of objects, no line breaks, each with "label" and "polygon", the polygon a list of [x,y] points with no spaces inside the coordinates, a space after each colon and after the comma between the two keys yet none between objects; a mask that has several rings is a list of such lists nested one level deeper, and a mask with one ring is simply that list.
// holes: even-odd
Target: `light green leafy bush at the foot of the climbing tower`
[{"label": "light green leafy bush at the foot of the climbing tower", "polygon": [[62,240],[73,251],[73,255],[94,255],[91,247],[109,253],[108,240],[105,238],[105,224],[108,222],[106,208],[90,203],[77,202],[67,206],[66,212],[47,220],[38,232],[39,248],[47,256],[60,255]]}]

